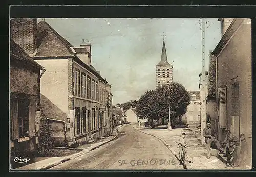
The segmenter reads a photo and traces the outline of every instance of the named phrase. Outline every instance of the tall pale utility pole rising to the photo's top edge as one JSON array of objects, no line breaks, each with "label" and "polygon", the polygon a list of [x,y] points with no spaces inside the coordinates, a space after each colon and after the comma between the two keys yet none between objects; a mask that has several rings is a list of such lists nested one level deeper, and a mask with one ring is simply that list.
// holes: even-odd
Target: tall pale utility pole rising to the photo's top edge
[{"label": "tall pale utility pole rising to the photo's top edge", "polygon": [[206,81],[205,81],[205,19],[202,18],[202,91],[201,91],[201,141],[204,143],[203,129],[206,127]]}]

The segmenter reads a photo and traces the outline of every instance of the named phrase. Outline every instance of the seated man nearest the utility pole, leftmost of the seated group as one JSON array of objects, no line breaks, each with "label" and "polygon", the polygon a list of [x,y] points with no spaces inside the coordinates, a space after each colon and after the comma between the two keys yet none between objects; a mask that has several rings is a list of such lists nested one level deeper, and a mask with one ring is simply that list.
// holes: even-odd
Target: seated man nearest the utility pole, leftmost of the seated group
[{"label": "seated man nearest the utility pole, leftmost of the seated group", "polygon": [[206,150],[207,150],[207,159],[210,158],[210,145],[211,143],[215,143],[218,150],[221,151],[220,142],[215,139],[216,131],[211,127],[210,121],[207,121],[207,127],[203,129],[203,136],[205,137]]}]

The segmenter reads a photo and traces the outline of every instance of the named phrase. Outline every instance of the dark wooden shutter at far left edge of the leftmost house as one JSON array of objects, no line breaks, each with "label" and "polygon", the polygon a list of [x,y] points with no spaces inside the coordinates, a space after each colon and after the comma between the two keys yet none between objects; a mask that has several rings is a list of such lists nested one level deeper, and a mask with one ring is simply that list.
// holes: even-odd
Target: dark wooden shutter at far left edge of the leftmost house
[{"label": "dark wooden shutter at far left edge of the leftmost house", "polygon": [[18,103],[17,100],[12,100],[11,108],[11,119],[12,119],[12,139],[18,139]]}]

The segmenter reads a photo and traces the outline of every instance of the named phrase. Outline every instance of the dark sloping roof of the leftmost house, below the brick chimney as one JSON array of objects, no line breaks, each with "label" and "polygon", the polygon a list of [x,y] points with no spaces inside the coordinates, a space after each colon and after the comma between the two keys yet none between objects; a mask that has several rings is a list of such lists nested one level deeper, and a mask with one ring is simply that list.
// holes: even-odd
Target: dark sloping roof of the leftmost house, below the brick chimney
[{"label": "dark sloping roof of the leftmost house, below the brick chimney", "polygon": [[17,43],[13,40],[10,41],[10,54],[22,62],[28,63],[29,65],[42,69],[43,67],[39,65],[36,61],[34,61],[26,52],[25,50],[20,47]]}]

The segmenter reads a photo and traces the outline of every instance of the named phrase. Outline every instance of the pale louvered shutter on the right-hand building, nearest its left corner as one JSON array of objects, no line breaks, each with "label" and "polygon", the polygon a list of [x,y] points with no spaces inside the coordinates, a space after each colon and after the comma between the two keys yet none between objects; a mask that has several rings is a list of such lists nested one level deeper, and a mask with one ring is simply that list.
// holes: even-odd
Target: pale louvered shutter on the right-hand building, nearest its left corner
[{"label": "pale louvered shutter on the right-hand building, nearest its left corner", "polygon": [[220,120],[220,127],[227,128],[227,93],[226,87],[219,88],[219,120]]}]

